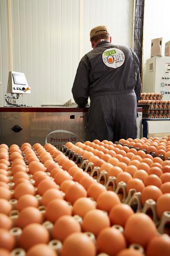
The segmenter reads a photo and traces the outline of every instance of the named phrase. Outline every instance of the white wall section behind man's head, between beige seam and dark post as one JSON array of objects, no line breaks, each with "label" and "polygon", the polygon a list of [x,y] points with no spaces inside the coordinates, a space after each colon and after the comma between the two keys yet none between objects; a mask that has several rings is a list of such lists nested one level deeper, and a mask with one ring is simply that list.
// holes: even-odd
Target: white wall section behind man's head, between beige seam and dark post
[{"label": "white wall section behind man's head, between beige seam and dark post", "polygon": [[133,0],[84,0],[82,56],[91,48],[90,30],[106,25],[113,44],[132,47]]}]

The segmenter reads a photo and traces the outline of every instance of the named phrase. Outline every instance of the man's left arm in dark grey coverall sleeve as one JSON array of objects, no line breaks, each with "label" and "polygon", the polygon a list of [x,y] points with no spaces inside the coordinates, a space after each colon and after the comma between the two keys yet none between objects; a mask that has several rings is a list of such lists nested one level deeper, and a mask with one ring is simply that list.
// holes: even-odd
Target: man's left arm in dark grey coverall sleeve
[{"label": "man's left arm in dark grey coverall sleeve", "polygon": [[74,101],[79,107],[85,107],[88,103],[88,86],[90,73],[89,59],[85,55],[79,62],[77,73],[72,87]]}]

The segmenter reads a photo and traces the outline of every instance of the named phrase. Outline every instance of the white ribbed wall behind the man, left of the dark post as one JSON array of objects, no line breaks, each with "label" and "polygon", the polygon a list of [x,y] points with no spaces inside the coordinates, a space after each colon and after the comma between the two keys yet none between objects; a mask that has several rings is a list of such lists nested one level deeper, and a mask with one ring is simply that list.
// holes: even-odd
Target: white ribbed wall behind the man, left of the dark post
[{"label": "white ribbed wall behind the man, left of the dark post", "polygon": [[[133,0],[11,0],[11,14],[13,70],[25,73],[32,88],[31,95],[23,95],[29,106],[72,98],[79,59],[91,50],[92,27],[105,24],[114,44],[132,46]],[[9,71],[7,0],[0,0],[0,21],[3,106]]]}]

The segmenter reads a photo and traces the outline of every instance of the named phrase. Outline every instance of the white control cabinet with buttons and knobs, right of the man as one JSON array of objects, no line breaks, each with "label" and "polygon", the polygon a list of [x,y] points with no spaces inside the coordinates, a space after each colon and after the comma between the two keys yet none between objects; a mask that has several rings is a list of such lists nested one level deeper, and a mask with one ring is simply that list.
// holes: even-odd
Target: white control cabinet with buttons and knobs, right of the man
[{"label": "white control cabinet with buttons and knobs, right of the man", "polygon": [[161,93],[163,100],[170,100],[170,57],[154,56],[147,60],[143,92]]}]

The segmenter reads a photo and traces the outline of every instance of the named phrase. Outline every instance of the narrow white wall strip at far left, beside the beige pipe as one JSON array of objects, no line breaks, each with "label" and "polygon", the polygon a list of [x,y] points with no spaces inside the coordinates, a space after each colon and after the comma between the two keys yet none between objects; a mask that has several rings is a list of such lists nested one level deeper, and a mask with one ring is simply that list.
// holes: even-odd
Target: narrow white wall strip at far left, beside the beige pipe
[{"label": "narrow white wall strip at far left, beside the beige pipe", "polygon": [[9,50],[8,50],[8,12],[7,1],[0,0],[0,107],[4,106],[4,94],[8,83]]}]

